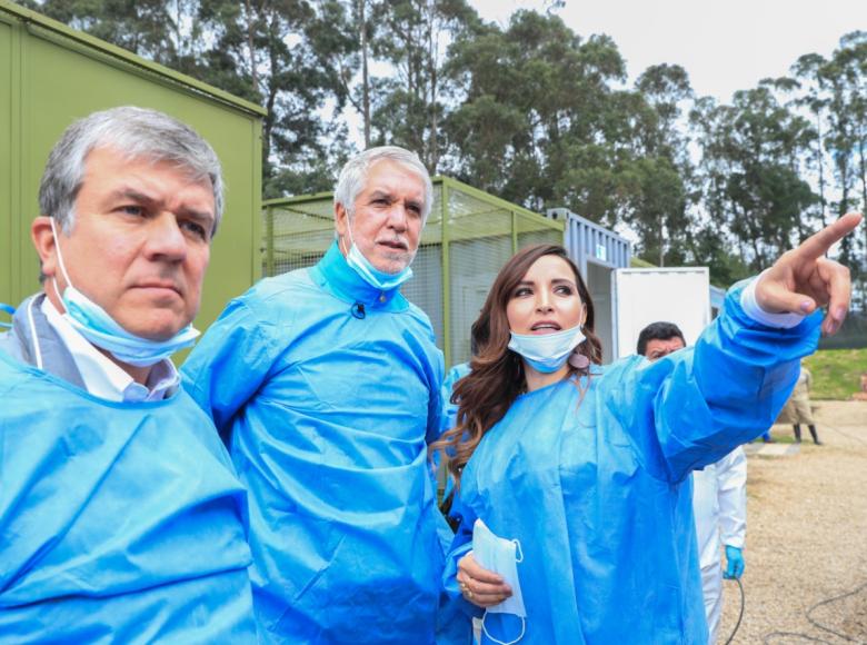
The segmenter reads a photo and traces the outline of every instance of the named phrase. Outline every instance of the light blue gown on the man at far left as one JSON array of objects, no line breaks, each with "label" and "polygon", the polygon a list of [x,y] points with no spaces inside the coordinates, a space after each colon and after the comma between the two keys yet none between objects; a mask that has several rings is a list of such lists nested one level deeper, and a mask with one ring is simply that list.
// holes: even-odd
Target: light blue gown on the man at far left
[{"label": "light blue gown on the man at far left", "polygon": [[256,643],[246,495],[179,391],[110,403],[0,351],[0,642]]}]

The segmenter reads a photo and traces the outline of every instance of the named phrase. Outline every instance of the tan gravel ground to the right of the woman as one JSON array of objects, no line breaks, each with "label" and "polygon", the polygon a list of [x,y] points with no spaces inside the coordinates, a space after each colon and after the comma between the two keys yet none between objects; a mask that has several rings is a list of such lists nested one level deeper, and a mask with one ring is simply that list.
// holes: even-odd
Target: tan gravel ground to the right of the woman
[{"label": "tan gravel ground to the right of the woman", "polygon": [[[733,643],[867,644],[867,401],[815,401],[825,446],[749,457],[744,621]],[[775,426],[777,437],[791,426]],[[740,608],[724,582],[724,645]]]}]

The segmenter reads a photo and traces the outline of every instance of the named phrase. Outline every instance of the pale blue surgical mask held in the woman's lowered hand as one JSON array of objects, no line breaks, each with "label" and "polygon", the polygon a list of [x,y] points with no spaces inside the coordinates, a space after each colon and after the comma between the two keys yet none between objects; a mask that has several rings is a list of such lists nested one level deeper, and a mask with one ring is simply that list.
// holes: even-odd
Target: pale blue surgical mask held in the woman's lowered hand
[{"label": "pale blue surgical mask held in the woman's lowered hand", "polygon": [[[472,557],[482,567],[502,577],[509,587],[511,596],[501,603],[488,607],[481,617],[481,628],[485,635],[494,643],[511,645],[524,638],[527,624],[527,609],[524,606],[524,594],[518,577],[518,563],[524,560],[520,543],[517,539],[498,537],[488,528],[481,519],[472,525]],[[521,631],[514,641],[502,642],[494,638],[485,627],[485,618],[488,614],[514,614],[521,619]]]}]

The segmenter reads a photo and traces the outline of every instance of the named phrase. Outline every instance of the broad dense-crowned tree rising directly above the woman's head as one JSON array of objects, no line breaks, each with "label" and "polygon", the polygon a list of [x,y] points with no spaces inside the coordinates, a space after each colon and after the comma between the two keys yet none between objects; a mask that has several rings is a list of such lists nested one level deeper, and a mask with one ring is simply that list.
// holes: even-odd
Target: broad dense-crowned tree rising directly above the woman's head
[{"label": "broad dense-crowned tree rising directly above the woman's head", "polygon": [[447,71],[455,173],[536,210],[616,219],[616,123],[604,112],[625,67],[610,39],[585,41],[556,16],[518,11],[505,31],[488,24],[458,40]]}]

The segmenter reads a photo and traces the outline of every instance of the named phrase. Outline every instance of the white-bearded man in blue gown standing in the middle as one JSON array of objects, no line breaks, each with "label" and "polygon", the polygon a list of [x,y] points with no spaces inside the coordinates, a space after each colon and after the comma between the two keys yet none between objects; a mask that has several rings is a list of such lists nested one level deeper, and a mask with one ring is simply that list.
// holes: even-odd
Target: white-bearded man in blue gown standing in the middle
[{"label": "white-bearded man in blue gown standing in the middle", "polygon": [[250,494],[266,642],[434,642],[444,520],[426,444],[444,366],[399,292],[431,200],[415,153],[351,159],[325,257],[233,300],[183,366]]}]

